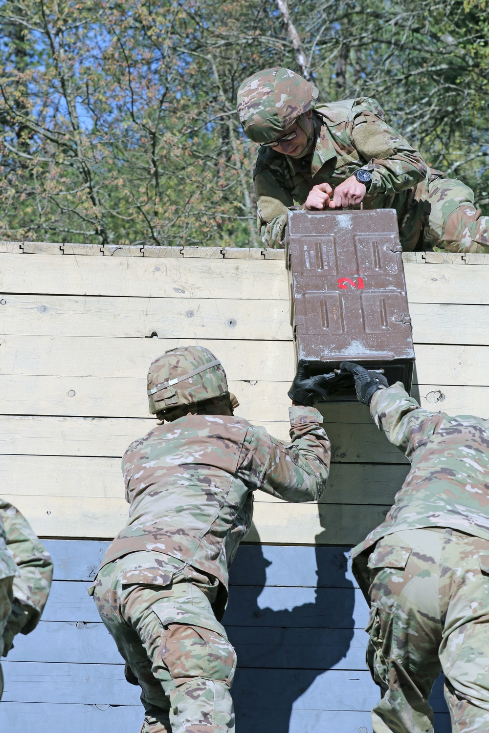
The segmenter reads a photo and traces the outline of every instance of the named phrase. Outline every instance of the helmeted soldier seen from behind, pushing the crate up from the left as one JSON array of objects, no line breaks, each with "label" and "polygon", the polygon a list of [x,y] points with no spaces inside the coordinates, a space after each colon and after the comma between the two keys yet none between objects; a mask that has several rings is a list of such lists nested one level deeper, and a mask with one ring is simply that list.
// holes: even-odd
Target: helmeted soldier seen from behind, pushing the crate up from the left
[{"label": "helmeted soldier seen from behind, pushing the crate up from the left", "polygon": [[[301,378],[295,402],[320,399]],[[220,623],[228,568],[251,526],[253,493],[317,500],[329,441],[313,407],[290,408],[292,443],[233,416],[221,362],[203,347],[155,359],[147,380],[161,423],[122,459],[129,520],[90,592],[141,686],[141,733],[232,733],[235,651]]]}]

